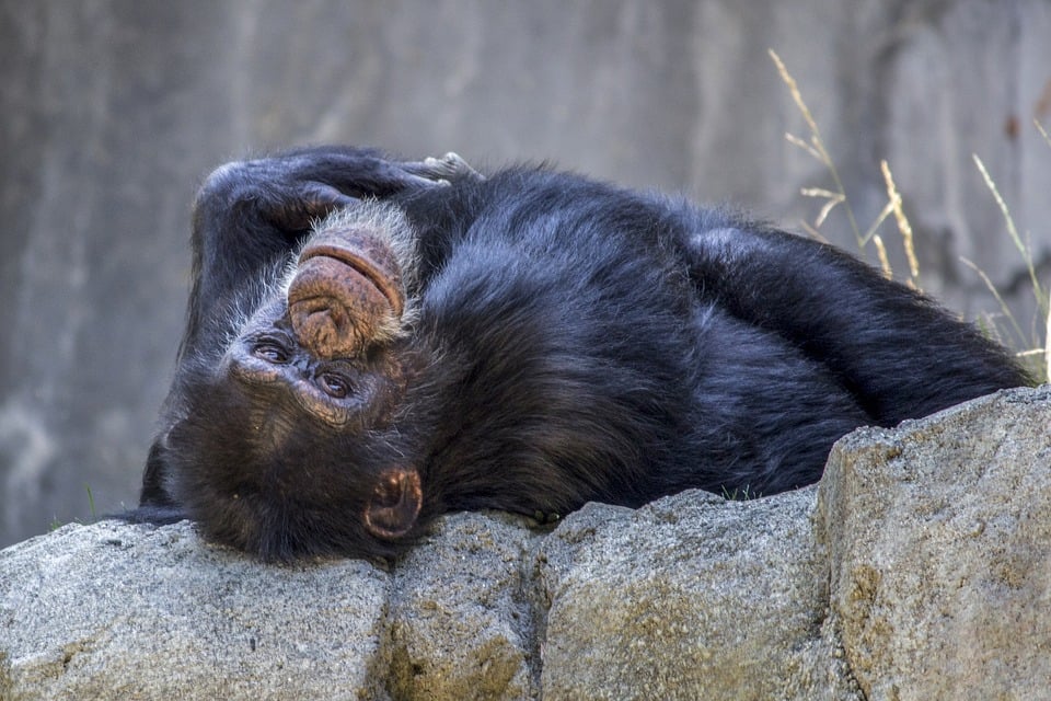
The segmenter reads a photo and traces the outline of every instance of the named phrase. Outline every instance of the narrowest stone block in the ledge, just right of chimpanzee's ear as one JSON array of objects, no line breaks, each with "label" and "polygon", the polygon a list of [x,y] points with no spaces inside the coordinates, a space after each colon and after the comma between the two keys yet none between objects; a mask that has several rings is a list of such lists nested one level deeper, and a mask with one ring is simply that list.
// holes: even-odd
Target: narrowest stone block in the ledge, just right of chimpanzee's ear
[{"label": "narrowest stone block in the ledge, just right of chimpanzee's ear", "polygon": [[457,514],[400,563],[390,602],[395,699],[538,696],[521,576],[523,553],[538,537],[511,516]]}]

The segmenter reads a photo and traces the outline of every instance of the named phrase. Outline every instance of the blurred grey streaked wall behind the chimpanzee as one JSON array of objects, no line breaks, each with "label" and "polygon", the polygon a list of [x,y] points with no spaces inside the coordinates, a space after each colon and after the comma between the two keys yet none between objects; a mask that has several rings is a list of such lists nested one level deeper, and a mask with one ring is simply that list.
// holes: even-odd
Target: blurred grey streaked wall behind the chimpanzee
[{"label": "blurred grey streaked wall behind the chimpanzee", "polygon": [[[0,0],[0,547],[135,503],[212,168],[332,141],[547,159],[802,231],[825,199],[800,189],[839,189],[785,138],[811,135],[771,48],[858,230],[886,159],[920,285],[997,314],[973,261],[1041,344],[972,154],[1051,281],[1048,0]],[[846,215],[820,232],[857,252]]]}]

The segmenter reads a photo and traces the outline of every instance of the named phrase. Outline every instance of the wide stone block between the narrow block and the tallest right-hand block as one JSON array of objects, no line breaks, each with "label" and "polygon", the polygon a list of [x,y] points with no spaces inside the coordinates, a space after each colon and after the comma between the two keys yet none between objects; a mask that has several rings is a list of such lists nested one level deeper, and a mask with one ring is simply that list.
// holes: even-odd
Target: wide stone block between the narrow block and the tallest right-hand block
[{"label": "wide stone block between the narrow block and the tallest right-hand block", "polygon": [[545,699],[839,699],[816,489],[571,515],[539,552]]}]

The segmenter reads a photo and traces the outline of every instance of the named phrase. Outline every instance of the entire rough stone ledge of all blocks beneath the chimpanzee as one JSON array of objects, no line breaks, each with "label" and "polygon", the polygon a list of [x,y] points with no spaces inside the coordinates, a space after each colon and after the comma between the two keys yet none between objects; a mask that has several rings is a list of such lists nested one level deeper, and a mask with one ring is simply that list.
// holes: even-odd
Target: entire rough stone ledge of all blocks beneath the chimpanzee
[{"label": "entire rough stone ledge of all blocks beneath the chimpanzee", "polygon": [[1042,698],[1049,509],[1043,387],[859,429],[816,487],[457,514],[393,564],[67,526],[0,551],[0,700]]}]

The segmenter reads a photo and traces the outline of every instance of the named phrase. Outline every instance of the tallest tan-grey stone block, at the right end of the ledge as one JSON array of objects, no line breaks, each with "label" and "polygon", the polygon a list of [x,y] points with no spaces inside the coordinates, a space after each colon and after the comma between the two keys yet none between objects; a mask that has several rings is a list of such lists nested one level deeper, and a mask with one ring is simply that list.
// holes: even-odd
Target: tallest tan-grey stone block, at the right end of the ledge
[{"label": "tallest tan-grey stone block, at the right end of the ledge", "polygon": [[836,444],[831,601],[869,699],[1038,699],[1051,680],[1051,387]]}]

